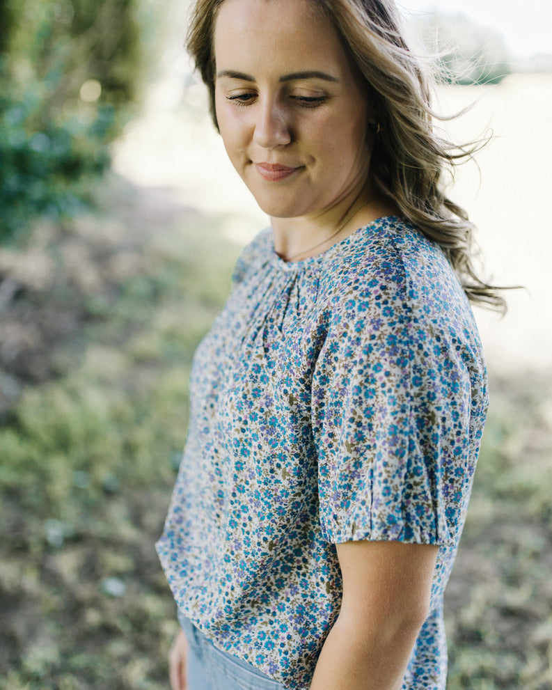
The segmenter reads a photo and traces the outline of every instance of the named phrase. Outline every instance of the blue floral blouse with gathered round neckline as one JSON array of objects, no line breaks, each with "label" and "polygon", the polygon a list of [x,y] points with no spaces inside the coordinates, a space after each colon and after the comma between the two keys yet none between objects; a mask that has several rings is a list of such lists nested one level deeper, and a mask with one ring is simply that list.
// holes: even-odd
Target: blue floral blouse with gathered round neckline
[{"label": "blue floral blouse with gathered round neckline", "polygon": [[340,609],[335,544],[438,544],[404,690],[444,690],[443,590],[487,409],[473,315],[441,250],[397,217],[286,263],[246,247],[198,347],[187,445],[157,543],[216,647],[310,684]]}]

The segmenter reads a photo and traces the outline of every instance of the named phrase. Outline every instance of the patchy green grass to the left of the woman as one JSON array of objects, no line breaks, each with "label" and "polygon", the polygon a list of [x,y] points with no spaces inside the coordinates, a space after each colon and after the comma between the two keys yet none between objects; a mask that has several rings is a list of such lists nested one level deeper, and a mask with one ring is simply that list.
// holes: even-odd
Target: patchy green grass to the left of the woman
[{"label": "patchy green grass to the left of the woman", "polygon": [[100,269],[132,245],[140,260],[123,278],[20,298],[52,306],[72,290],[83,326],[45,347],[63,374],[25,384],[0,428],[2,690],[167,687],[177,623],[154,542],[184,446],[191,357],[238,249],[217,219],[175,209],[150,235],[130,208],[107,254],[102,216],[51,237],[53,255],[77,242]]}]

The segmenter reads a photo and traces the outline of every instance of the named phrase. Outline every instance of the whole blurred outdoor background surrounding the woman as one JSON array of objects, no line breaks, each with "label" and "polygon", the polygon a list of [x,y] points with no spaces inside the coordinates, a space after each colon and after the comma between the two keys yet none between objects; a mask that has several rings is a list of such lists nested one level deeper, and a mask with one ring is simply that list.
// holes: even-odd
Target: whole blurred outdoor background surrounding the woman
[{"label": "whole blurred outdoor background surrounding the woman", "polygon": [[[267,224],[182,48],[187,2],[0,0],[0,689],[168,687],[157,562],[198,340]],[[552,10],[404,0],[487,275],[491,411],[449,690],[552,687]]]}]

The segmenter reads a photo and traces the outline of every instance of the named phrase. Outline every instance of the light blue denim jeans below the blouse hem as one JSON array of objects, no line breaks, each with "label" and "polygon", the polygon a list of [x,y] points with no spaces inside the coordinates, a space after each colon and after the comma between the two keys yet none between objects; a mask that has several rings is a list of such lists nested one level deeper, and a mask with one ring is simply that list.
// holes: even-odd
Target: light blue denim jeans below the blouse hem
[{"label": "light blue denim jeans below the blouse hem", "polygon": [[285,690],[247,661],[216,649],[180,611],[178,622],[189,645],[188,690]]}]

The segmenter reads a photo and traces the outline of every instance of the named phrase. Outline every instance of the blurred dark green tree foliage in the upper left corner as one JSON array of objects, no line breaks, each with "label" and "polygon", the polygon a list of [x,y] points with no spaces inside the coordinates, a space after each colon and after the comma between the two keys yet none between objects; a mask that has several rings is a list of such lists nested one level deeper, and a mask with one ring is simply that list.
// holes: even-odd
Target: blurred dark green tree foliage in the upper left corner
[{"label": "blurred dark green tree foliage in the upper left corner", "polygon": [[72,213],[136,101],[139,0],[0,0],[0,242]]}]

